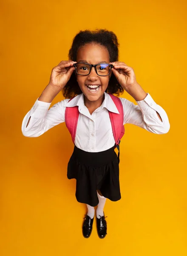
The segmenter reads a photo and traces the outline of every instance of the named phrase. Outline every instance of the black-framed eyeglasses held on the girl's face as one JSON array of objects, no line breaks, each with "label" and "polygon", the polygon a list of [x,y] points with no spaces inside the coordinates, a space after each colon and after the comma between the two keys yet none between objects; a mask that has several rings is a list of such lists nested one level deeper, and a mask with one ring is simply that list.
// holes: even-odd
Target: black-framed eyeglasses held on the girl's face
[{"label": "black-framed eyeglasses held on the girl's face", "polygon": [[80,76],[88,76],[91,72],[91,68],[94,67],[98,76],[108,76],[111,73],[113,67],[112,64],[100,63],[100,64],[89,64],[85,62],[78,62],[74,64],[75,70]]}]

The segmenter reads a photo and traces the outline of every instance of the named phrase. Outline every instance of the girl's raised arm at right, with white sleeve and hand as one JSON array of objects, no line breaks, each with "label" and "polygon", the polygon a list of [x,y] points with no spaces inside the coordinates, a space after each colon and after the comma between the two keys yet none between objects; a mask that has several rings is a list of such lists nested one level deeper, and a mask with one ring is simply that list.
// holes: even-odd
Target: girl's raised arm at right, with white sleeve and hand
[{"label": "girl's raised arm at right, with white sleeve and hand", "polygon": [[[139,105],[136,106],[129,101],[122,102],[124,104],[124,124],[132,123],[157,134],[167,133],[170,123],[166,112],[137,83],[133,68],[121,61],[110,62],[110,64],[113,64],[112,72],[119,84]],[[125,103],[127,103],[126,107]]]}]

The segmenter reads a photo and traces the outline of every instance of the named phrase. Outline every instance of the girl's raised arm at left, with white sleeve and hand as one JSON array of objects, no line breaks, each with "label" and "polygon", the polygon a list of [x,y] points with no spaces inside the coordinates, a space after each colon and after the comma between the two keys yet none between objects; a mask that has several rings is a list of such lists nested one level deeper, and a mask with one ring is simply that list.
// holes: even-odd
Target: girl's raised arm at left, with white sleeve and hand
[{"label": "girl's raised arm at left, with white sleeve and hand", "polygon": [[52,69],[49,84],[45,87],[34,106],[26,114],[22,122],[22,133],[26,137],[38,137],[54,125],[64,122],[64,102],[58,102],[49,108],[55,96],[65,87],[76,61],[60,61]]}]

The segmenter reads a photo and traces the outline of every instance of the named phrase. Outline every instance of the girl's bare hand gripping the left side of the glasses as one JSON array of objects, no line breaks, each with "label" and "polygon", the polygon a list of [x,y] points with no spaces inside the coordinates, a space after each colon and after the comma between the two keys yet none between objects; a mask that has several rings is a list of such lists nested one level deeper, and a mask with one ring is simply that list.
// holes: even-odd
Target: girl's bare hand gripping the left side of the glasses
[{"label": "girl's bare hand gripping the left side of the glasses", "polygon": [[77,63],[77,61],[60,61],[60,63],[52,69],[49,84],[62,90],[75,70],[73,66],[74,63]]}]

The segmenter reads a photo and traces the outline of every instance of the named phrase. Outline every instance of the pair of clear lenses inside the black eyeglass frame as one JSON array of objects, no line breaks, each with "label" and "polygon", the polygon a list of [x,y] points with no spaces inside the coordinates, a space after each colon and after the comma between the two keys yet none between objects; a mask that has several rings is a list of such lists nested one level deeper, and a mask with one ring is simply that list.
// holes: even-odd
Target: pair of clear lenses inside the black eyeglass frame
[{"label": "pair of clear lenses inside the black eyeglass frame", "polygon": [[[91,66],[85,63],[77,63],[77,73],[79,75],[88,75]],[[110,73],[111,66],[109,64],[98,64],[96,65],[96,73],[100,76],[107,76]]]}]

